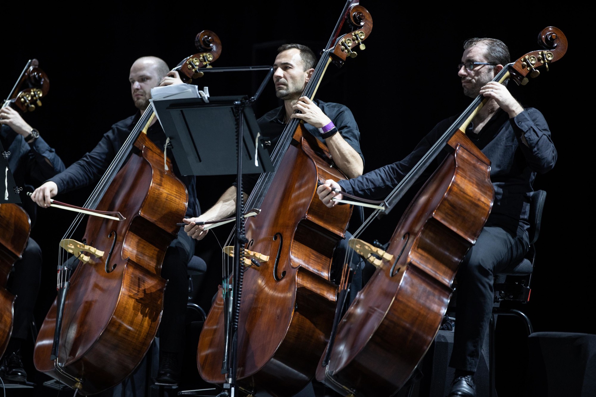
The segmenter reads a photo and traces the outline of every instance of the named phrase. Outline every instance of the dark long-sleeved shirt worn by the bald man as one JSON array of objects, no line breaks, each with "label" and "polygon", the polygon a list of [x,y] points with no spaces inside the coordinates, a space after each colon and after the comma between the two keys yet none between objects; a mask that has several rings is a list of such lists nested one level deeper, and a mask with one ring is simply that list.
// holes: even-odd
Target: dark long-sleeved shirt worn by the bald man
[{"label": "dark long-sleeved shirt worn by the bald man", "polygon": [[[137,112],[134,116],[114,124],[93,150],[86,153],[82,159],[73,163],[64,172],[50,178],[50,181],[54,181],[58,185],[58,192],[66,193],[98,181],[116,157],[140,117],[141,113]],[[166,144],[166,134],[164,134],[159,122],[154,123],[147,129],[147,137],[159,148],[163,148]],[[195,176],[181,176],[171,153],[169,153],[169,158],[172,160],[174,174],[184,183],[188,191],[188,207],[185,216],[187,218],[199,216],[201,210],[197,200]]]}]

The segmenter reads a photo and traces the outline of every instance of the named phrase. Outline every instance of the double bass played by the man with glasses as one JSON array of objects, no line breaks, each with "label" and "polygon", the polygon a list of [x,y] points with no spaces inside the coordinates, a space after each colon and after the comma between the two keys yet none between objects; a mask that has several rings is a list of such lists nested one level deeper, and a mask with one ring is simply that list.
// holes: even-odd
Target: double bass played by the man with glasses
[{"label": "double bass played by the man with glasses", "polygon": [[[542,30],[538,41],[543,49],[507,64],[493,81],[525,85],[567,51],[555,27]],[[477,97],[384,200],[395,204],[446,145],[452,148],[403,213],[389,247],[350,243],[377,269],[337,324],[316,371],[317,380],[342,395],[395,395],[439,330],[458,266],[491,212],[491,162],[464,132],[487,100]]]}]

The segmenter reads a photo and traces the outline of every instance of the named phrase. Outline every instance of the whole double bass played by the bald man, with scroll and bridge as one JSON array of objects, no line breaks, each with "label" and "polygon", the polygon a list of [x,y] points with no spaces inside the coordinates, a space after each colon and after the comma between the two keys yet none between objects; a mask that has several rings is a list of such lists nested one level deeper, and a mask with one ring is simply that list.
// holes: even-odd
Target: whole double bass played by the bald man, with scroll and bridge
[{"label": "whole double bass played by the bald man, with scroll and bridge", "polygon": [[[187,80],[221,53],[213,32],[199,33],[196,43],[201,52],[174,69]],[[73,257],[60,260],[58,297],[39,331],[33,361],[38,371],[82,395],[128,377],[162,317],[166,280],[160,271],[188,192],[163,148],[145,134],[153,117],[150,104],[85,203],[85,209],[119,216],[89,217],[82,241],[76,241],[71,235],[79,214],[60,244]]]}]

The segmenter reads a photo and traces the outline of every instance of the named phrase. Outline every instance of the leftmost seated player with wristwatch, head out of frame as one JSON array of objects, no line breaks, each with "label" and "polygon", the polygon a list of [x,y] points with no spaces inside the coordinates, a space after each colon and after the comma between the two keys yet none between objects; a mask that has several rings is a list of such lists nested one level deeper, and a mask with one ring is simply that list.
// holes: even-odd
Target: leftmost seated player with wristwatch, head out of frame
[{"label": "leftmost seated player with wristwatch, head out of frame", "polygon": [[[11,107],[0,110],[0,142],[7,156],[17,187],[38,185],[64,170],[64,163],[49,147],[39,132]],[[21,207],[35,225],[36,206],[21,191]],[[0,361],[0,377],[14,382],[26,382],[21,345],[27,339],[29,324],[41,283],[42,253],[33,238],[27,240],[22,258],[14,263],[7,282],[7,290],[17,296],[14,301],[13,332]]]}]

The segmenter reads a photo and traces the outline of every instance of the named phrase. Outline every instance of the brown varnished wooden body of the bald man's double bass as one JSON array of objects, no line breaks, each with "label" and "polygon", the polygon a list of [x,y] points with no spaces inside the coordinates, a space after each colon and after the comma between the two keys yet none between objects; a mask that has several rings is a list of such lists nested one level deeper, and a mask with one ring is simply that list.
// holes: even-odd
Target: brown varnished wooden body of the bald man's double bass
[{"label": "brown varnished wooden body of the bald man's double bass", "polygon": [[[147,352],[161,320],[163,258],[178,231],[176,222],[186,212],[186,188],[164,170],[163,153],[145,134],[139,135],[135,146],[138,153],[116,175],[97,208],[118,210],[126,220],[89,219],[84,238],[105,253],[79,262],[66,296],[58,361],[64,363],[64,371],[83,379],[83,395],[122,382]],[[107,273],[112,231],[117,239],[108,264],[116,268]],[[73,386],[49,359],[55,316],[56,302],[39,331],[35,367]]]}]

